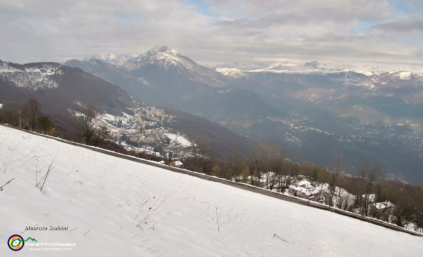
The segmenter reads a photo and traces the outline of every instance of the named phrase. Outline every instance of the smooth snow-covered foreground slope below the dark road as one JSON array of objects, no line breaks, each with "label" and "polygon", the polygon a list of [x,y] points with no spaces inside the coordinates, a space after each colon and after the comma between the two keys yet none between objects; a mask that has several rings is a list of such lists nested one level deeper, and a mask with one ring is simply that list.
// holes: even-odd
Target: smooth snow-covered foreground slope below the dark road
[{"label": "smooth snow-covered foreground slope below the dark road", "polygon": [[[40,192],[36,171],[38,181],[51,163]],[[421,237],[0,126],[0,186],[12,178],[0,191],[0,256],[374,257],[423,252]],[[36,225],[69,229],[25,231]],[[55,246],[33,247],[27,241],[14,252],[6,244],[14,234],[76,246],[36,251],[30,248]]]}]

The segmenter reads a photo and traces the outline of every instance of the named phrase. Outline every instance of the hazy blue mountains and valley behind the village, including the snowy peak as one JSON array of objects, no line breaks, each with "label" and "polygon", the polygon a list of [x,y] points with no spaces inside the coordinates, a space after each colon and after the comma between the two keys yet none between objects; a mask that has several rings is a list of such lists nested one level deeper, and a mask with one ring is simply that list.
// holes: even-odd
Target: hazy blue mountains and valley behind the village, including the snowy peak
[{"label": "hazy blue mountains and valley behind the village, including the snowy peak", "polygon": [[[121,67],[71,60],[148,104],[179,109],[255,140],[271,139],[299,160],[346,155],[392,178],[423,184],[423,76],[405,68],[227,63],[207,68],[168,46]],[[251,68],[251,69],[250,69]]]}]

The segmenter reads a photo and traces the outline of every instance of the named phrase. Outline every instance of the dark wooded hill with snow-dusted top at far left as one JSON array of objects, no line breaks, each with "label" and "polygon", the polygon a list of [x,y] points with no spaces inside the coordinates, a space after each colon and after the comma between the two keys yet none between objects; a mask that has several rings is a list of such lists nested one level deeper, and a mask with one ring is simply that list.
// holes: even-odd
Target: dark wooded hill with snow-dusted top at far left
[{"label": "dark wooded hill with snow-dusted top at far left", "polygon": [[71,134],[79,104],[92,104],[101,111],[121,114],[134,100],[120,87],[81,69],[59,63],[6,63],[0,60],[0,102],[23,104],[33,97],[52,116],[58,135]]}]

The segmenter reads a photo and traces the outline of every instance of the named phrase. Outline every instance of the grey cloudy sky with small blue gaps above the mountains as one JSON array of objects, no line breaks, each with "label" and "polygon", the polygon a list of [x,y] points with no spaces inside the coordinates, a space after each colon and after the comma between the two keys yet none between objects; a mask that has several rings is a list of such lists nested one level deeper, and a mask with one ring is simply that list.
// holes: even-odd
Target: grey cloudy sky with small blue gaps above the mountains
[{"label": "grey cloudy sky with small blue gaps above the mountains", "polygon": [[421,0],[0,0],[0,59],[140,55],[423,68]]}]

